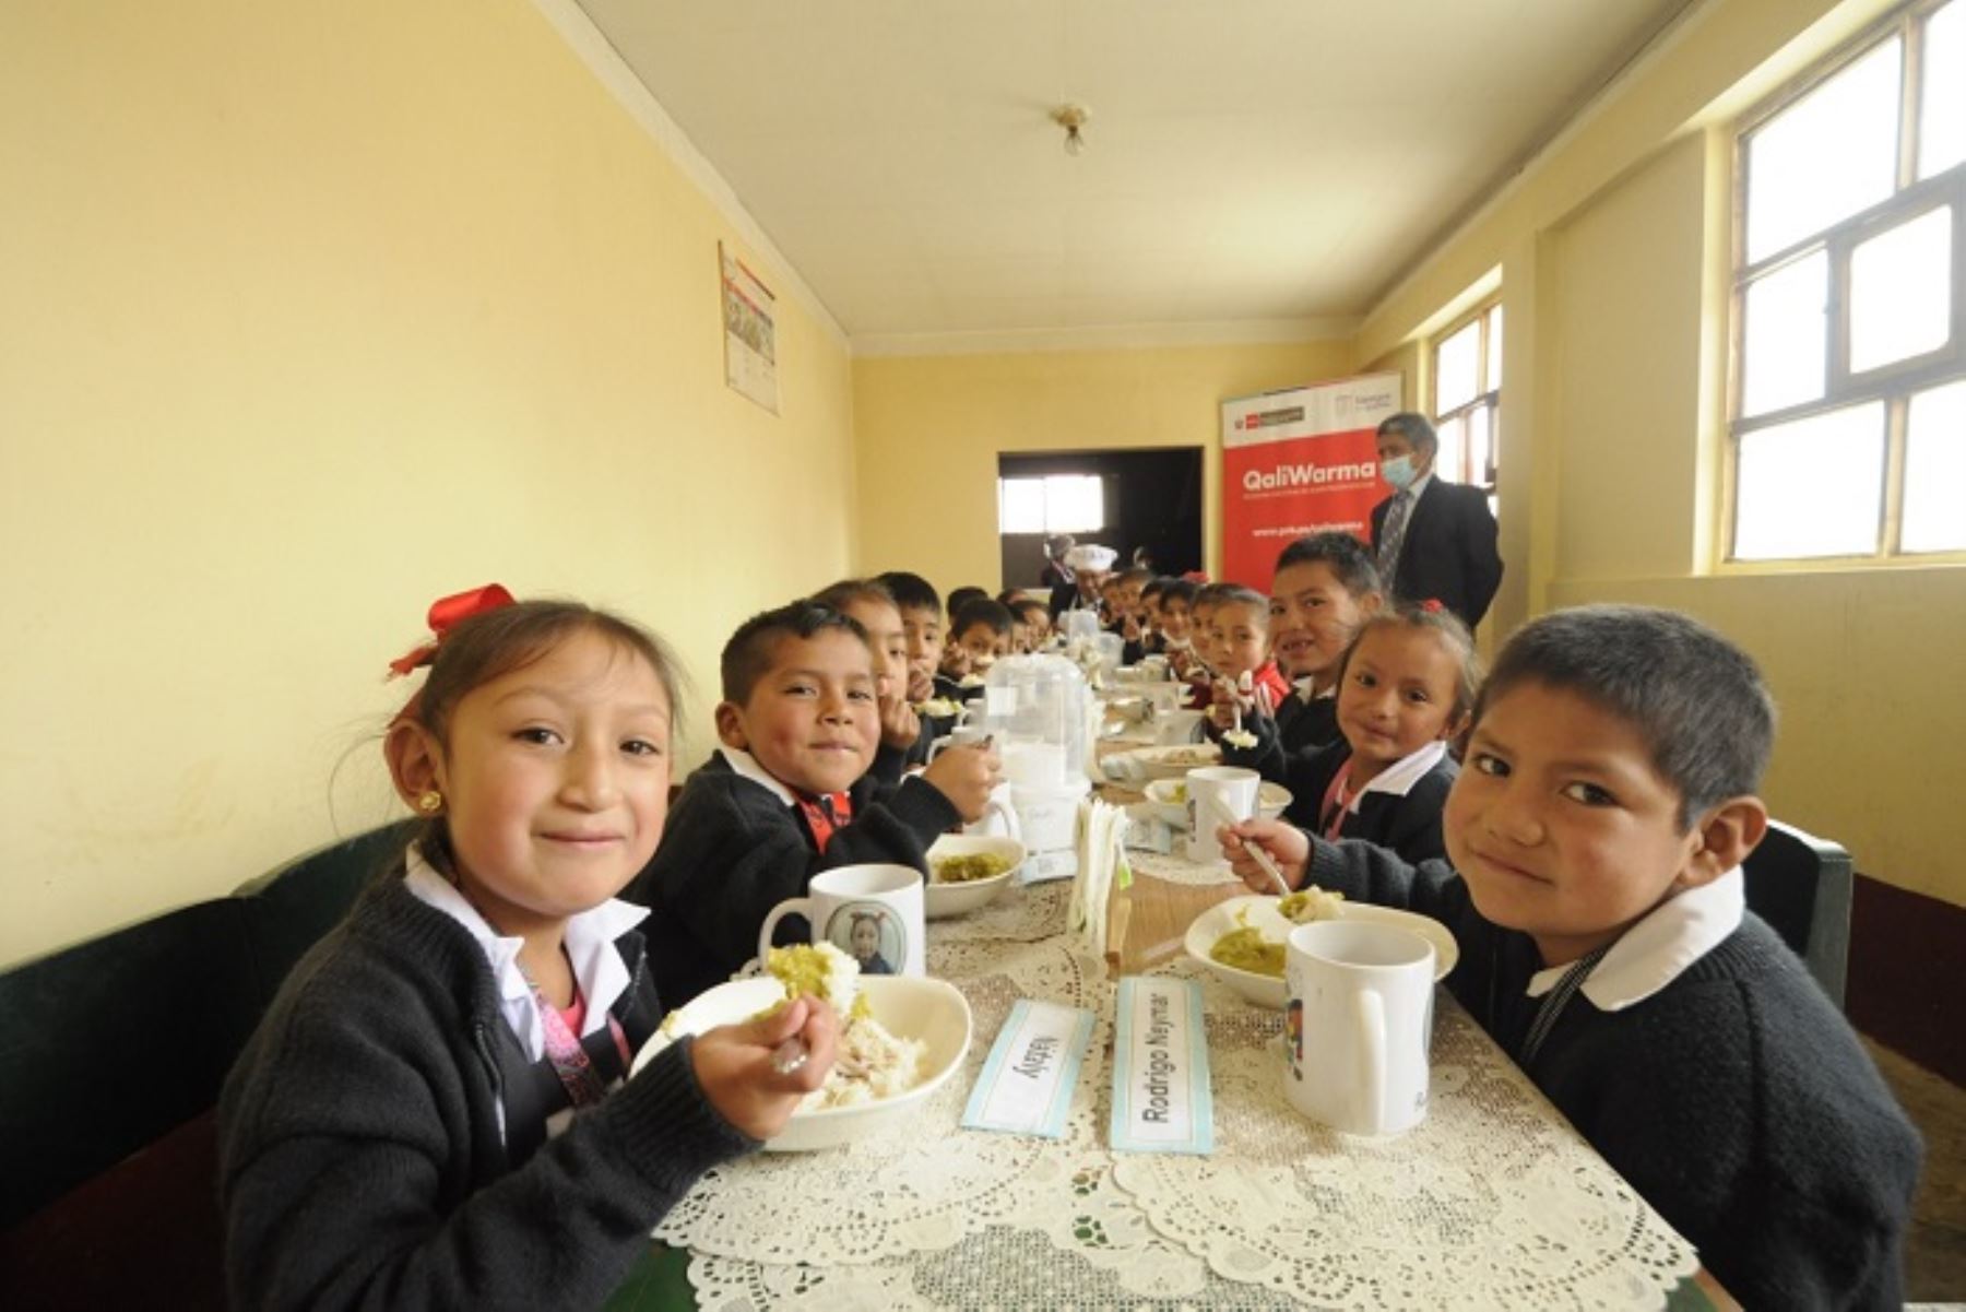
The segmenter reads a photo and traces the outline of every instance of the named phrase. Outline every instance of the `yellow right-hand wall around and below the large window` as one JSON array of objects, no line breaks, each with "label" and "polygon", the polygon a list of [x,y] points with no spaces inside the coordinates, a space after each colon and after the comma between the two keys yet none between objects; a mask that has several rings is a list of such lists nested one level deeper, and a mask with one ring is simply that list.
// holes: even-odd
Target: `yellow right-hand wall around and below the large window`
[{"label": "yellow right-hand wall around and below the large window", "polygon": [[1506,311],[1500,627],[1626,600],[1705,618],[1783,710],[1767,797],[1858,869],[1966,903],[1966,568],[1720,563],[1728,118],[1885,0],[1716,0],[1368,319],[1355,360],[1408,342],[1500,264]]}]

